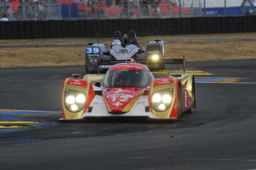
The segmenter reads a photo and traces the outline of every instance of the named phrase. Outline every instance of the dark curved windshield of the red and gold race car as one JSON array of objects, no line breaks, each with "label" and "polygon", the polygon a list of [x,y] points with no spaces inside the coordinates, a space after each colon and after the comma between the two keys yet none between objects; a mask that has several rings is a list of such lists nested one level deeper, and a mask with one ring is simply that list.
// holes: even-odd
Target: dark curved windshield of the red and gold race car
[{"label": "dark curved windshield of the red and gold race car", "polygon": [[153,81],[147,69],[110,69],[103,82],[104,87],[146,87]]}]

